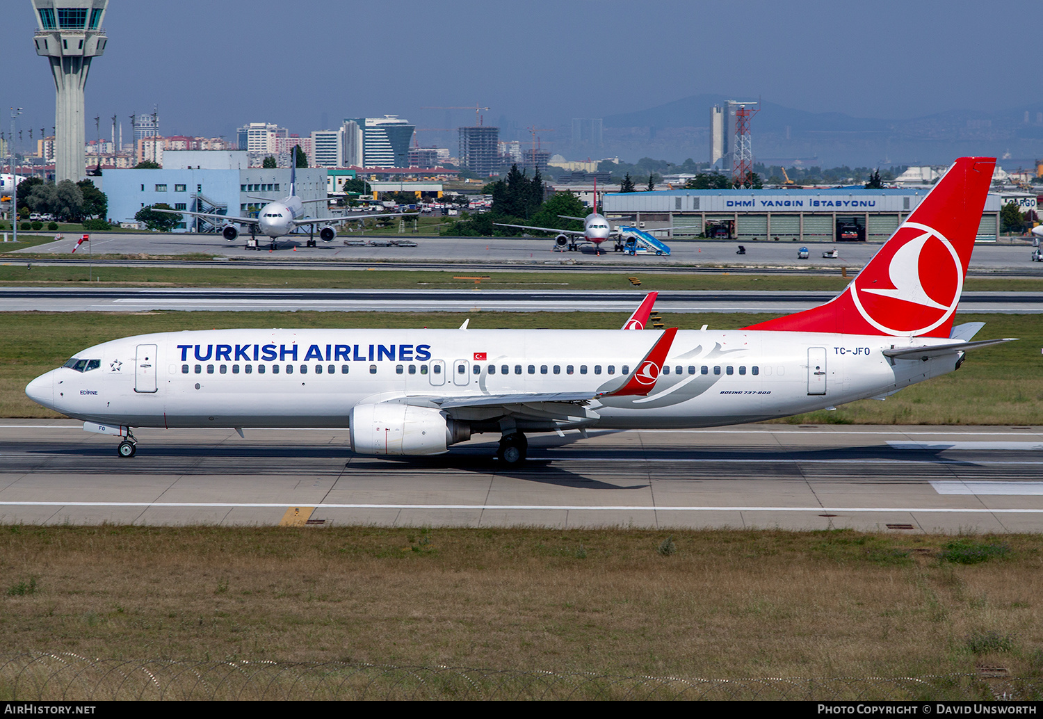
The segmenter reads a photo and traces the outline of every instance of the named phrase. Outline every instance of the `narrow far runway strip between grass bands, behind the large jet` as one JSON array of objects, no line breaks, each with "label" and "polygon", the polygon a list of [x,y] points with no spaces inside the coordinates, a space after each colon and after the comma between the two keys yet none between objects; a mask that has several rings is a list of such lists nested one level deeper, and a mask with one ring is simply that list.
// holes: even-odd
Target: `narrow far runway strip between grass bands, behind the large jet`
[{"label": "narrow far runway strip between grass bands, behind the large jet", "polygon": [[[835,292],[664,291],[661,312],[792,313]],[[198,288],[0,288],[0,312],[285,311],[339,312],[632,312],[645,292],[597,290],[272,290]],[[960,312],[1039,313],[1043,294],[964,292]]]}]

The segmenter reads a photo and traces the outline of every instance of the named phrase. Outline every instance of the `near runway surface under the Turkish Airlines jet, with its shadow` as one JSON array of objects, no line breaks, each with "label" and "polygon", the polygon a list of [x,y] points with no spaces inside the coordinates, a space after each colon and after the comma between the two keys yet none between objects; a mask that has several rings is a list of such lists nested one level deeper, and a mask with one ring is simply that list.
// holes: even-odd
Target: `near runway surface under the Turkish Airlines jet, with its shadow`
[{"label": "near runway surface under the Turkish Airlines jet, with its shadow", "polygon": [[1043,428],[751,425],[496,437],[422,459],[354,455],[346,430],[140,430],[138,455],[73,421],[0,423],[0,522],[26,524],[1043,530]]}]

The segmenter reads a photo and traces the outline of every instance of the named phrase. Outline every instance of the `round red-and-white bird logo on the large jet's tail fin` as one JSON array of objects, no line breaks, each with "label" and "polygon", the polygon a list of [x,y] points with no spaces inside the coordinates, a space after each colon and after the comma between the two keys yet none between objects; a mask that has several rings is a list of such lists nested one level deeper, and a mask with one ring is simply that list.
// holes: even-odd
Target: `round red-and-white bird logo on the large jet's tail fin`
[{"label": "round red-and-white bird logo on the large jet's tail fin", "polygon": [[963,286],[952,243],[932,227],[907,222],[858,273],[851,297],[880,332],[921,335],[955,312]]}]

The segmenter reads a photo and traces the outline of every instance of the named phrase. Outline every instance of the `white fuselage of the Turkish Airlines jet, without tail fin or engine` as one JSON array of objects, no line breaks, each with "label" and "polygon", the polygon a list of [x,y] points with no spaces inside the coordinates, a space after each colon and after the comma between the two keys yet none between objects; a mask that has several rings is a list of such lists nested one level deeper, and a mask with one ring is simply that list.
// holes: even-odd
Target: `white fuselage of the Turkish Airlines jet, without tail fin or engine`
[{"label": "white fuselage of the Turkish Airlines jet, without tail fin or engine", "polygon": [[[33,380],[26,393],[69,416],[108,425],[346,427],[356,405],[406,398],[422,405],[425,398],[608,391],[658,337],[620,330],[163,333],[79,352],[67,366]],[[604,397],[577,405],[567,420],[549,412],[545,422],[518,427],[754,422],[890,393],[951,372],[959,359],[953,352],[928,361],[889,360],[881,351],[893,344],[894,338],[879,336],[682,331],[647,397]],[[86,360],[81,370],[68,366],[76,359]],[[445,411],[478,424],[504,413],[499,407]]]}]

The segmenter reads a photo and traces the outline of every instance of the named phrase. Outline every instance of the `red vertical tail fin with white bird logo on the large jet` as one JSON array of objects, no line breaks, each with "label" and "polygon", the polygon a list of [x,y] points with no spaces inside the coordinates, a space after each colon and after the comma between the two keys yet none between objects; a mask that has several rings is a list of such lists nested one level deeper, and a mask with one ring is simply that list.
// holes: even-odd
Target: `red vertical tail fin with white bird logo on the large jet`
[{"label": "red vertical tail fin with white bird logo on the large jet", "polygon": [[832,301],[746,329],[948,337],[995,158],[960,158]]}]

